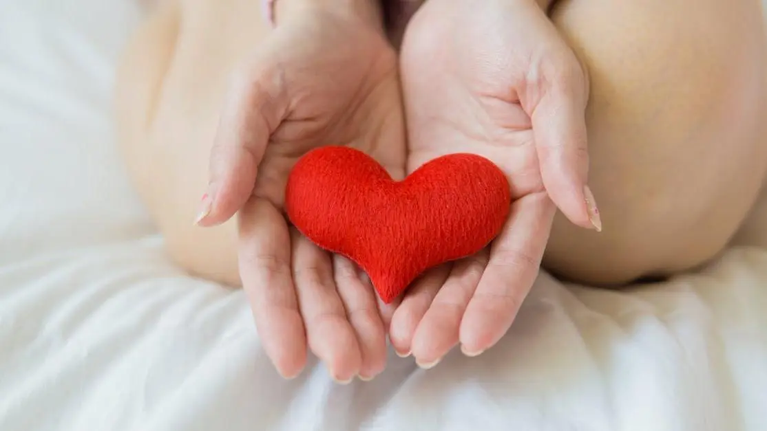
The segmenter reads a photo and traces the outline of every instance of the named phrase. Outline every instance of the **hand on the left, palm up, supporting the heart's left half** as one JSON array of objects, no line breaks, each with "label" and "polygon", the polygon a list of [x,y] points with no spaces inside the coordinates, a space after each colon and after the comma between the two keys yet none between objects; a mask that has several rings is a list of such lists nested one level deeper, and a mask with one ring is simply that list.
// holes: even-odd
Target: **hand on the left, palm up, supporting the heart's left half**
[{"label": "hand on the left, palm up, supporting the heart's left half", "polygon": [[397,55],[373,0],[277,2],[277,27],[235,75],[210,156],[198,219],[239,214],[239,273],[265,351],[284,377],[307,345],[334,380],[383,371],[379,302],[359,270],[288,227],[285,184],[323,145],[350,145],[403,177]]}]

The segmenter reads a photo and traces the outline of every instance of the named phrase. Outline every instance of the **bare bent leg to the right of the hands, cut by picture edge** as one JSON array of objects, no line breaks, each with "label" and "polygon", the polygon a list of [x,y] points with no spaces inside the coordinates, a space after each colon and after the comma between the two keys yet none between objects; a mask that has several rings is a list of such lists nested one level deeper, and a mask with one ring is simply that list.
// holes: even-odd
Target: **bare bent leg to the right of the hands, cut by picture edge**
[{"label": "bare bent leg to the right of the hands, cut by picture edge", "polygon": [[545,266],[621,283],[715,256],[767,168],[759,0],[564,0],[552,19],[591,80],[590,184],[604,230],[558,216]]}]

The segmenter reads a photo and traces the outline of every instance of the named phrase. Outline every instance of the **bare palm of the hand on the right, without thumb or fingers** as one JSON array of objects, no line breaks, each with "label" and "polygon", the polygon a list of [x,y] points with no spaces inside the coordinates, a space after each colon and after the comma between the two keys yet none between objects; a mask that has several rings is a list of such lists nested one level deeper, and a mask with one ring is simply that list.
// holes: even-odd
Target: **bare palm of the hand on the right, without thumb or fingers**
[{"label": "bare palm of the hand on the right, without thumb or fingers", "polygon": [[[427,2],[408,31],[409,40],[430,31],[423,39],[442,46],[409,40],[403,46],[408,169],[449,152],[476,152],[505,171],[514,198],[542,191],[532,122],[520,100],[531,47],[520,45],[520,30],[495,9],[475,6],[466,18],[459,11],[435,13],[441,7],[439,0]],[[452,31],[458,15],[469,21],[461,24],[466,31]]]}]

